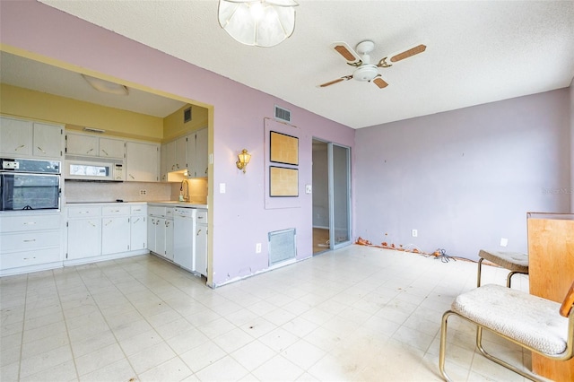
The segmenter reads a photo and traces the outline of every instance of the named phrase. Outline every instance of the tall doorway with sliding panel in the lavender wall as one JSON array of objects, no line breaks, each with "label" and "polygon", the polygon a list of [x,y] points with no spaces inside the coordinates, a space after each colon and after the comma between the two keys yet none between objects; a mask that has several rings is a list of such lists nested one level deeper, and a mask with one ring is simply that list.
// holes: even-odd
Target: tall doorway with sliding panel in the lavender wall
[{"label": "tall doorway with sliding panel in the lavender wall", "polygon": [[349,147],[313,139],[313,254],[351,244]]}]

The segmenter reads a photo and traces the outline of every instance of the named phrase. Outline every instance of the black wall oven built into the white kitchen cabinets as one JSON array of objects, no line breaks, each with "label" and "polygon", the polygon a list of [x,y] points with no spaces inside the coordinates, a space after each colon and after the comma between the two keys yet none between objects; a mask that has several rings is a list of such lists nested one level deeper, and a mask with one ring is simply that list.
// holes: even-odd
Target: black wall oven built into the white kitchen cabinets
[{"label": "black wall oven built into the white kitchen cabinets", "polygon": [[60,209],[60,161],[0,159],[0,211]]}]

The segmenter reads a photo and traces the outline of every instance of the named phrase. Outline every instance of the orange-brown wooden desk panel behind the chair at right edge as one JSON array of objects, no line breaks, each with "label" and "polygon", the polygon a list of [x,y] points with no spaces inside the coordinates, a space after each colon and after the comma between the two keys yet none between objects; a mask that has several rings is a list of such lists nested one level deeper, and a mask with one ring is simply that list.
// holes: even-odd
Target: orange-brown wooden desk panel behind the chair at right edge
[{"label": "orange-brown wooden desk panel behind the chair at right edge", "polygon": [[[574,280],[574,213],[527,213],[530,294],[562,302]],[[555,381],[574,381],[574,359],[532,354],[532,369]]]}]

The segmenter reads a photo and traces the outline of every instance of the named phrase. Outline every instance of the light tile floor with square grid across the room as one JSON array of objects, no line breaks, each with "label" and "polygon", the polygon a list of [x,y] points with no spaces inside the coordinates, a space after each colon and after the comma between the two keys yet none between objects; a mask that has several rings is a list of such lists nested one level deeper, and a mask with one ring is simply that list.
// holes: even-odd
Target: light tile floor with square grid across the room
[{"label": "light tile floor with square grid across the room", "polygon": [[[506,271],[485,266],[483,283]],[[211,290],[155,256],[0,279],[7,381],[428,381],[442,313],[476,264],[351,246]],[[513,286],[527,290],[527,277]],[[485,334],[507,360],[529,354]],[[524,380],[449,321],[455,380]]]}]

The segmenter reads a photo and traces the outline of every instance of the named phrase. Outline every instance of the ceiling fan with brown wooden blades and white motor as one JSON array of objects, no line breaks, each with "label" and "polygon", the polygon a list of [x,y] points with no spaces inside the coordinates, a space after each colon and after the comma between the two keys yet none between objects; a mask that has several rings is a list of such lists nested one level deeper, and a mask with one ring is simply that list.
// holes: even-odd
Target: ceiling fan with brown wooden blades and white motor
[{"label": "ceiling fan with brown wooden blades and white motor", "polygon": [[334,81],[325,82],[318,85],[319,88],[325,88],[326,86],[351,79],[363,82],[373,82],[378,86],[379,89],[386,88],[388,83],[382,79],[381,75],[378,73],[378,68],[390,67],[393,64],[404,60],[404,58],[408,58],[410,56],[424,52],[427,47],[425,45],[417,45],[414,48],[410,48],[404,50],[403,52],[391,55],[390,58],[389,56],[385,56],[378,61],[377,65],[370,63],[369,54],[375,48],[375,43],[370,40],[361,41],[359,44],[357,44],[357,48],[355,50],[349,47],[349,45],[347,45],[345,42],[335,42],[331,45],[331,48],[334,48],[335,52],[343,56],[348,65],[354,66],[356,69],[352,72],[352,74],[344,75],[343,77],[337,78]]}]

